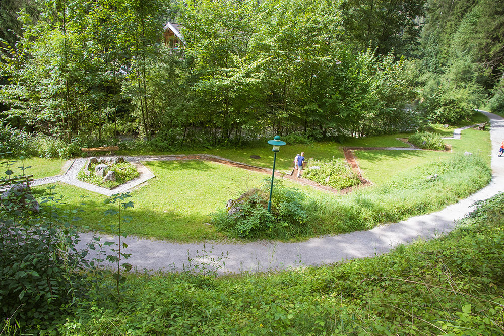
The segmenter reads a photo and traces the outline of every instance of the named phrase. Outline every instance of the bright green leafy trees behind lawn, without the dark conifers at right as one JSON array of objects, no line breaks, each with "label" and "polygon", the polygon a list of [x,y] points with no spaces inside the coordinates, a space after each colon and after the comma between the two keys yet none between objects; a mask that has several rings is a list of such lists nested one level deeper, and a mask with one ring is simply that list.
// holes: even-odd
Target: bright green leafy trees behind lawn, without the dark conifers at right
[{"label": "bright green leafy trees behind lawn, without the dark conifers at right", "polygon": [[[415,92],[401,55],[418,37],[422,2],[77,0],[39,10],[21,13],[19,42],[0,48],[0,100],[9,122],[66,142],[128,133],[173,150],[271,132],[308,143],[416,122],[404,113]],[[181,24],[181,50],[159,43],[165,13]]]}]

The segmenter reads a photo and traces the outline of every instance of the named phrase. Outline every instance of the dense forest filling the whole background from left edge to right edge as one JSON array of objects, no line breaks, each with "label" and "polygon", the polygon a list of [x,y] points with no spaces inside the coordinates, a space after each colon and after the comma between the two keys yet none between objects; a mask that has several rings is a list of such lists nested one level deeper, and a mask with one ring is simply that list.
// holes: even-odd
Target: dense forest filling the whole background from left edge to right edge
[{"label": "dense forest filling the whole background from left edge to right edge", "polygon": [[10,0],[0,18],[4,151],[341,140],[504,107],[504,0]]}]

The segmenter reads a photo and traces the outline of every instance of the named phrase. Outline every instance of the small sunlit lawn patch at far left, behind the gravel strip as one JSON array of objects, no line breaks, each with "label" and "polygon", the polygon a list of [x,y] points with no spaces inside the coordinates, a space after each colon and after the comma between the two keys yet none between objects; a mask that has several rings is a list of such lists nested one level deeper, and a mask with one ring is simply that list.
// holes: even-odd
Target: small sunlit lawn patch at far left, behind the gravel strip
[{"label": "small sunlit lawn patch at far left, behind the gravel strip", "polygon": [[[21,167],[25,167],[25,175],[33,175],[33,178],[42,178],[61,174],[61,168],[66,160],[37,157],[24,159],[23,161],[15,159],[0,160],[0,162],[4,161],[9,161],[9,164],[12,164],[9,169],[14,172],[14,176],[21,175],[23,173]],[[4,163],[2,164],[0,175],[3,176],[6,170],[7,166]]]}]

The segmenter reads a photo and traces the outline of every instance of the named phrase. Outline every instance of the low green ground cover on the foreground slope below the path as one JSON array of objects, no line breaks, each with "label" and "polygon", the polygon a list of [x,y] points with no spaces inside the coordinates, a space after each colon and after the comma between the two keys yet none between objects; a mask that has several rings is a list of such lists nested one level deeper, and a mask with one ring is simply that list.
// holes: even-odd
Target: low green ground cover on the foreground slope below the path
[{"label": "low green ground cover on the foreground slope below the path", "polygon": [[502,334],[503,250],[499,194],[480,202],[447,236],[373,258],[221,277],[129,274],[119,305],[101,283],[59,331],[69,336]]}]

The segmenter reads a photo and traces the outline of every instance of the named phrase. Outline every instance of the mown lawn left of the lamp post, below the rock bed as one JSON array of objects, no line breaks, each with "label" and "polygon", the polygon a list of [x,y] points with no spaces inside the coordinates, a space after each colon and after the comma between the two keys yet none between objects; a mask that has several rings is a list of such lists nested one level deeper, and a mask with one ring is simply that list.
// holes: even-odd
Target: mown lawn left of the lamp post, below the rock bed
[{"label": "mown lawn left of the lamp post, below the rock bed", "polygon": [[[128,234],[177,241],[221,239],[222,235],[208,224],[209,214],[226,206],[229,198],[257,186],[265,174],[206,161],[154,161],[144,163],[156,178],[131,192],[135,208],[133,220],[125,223]],[[43,190],[44,186],[37,187]],[[77,208],[80,195],[85,195],[83,225],[91,229],[108,228],[114,224],[103,212],[106,196],[66,184],[55,190],[64,195],[66,207]],[[85,222],[85,223],[84,223]]]}]

